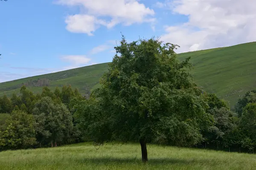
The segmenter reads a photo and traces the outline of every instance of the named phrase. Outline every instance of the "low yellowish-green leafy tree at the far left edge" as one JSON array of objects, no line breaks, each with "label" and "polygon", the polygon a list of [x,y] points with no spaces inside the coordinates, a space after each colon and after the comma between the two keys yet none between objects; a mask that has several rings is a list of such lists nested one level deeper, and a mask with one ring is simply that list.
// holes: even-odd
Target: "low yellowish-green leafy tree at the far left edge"
[{"label": "low yellowish-green leafy tree at the far left edge", "polygon": [[35,141],[34,117],[23,111],[13,111],[0,129],[0,150],[31,147]]}]

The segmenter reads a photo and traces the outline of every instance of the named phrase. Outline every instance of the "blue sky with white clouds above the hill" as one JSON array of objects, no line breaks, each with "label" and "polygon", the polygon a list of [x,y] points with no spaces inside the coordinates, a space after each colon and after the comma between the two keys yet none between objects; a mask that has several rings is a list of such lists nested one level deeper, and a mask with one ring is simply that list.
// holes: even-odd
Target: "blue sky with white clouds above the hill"
[{"label": "blue sky with white clouds above the hill", "polygon": [[[256,41],[256,0],[0,1],[0,82],[111,62],[122,34],[197,51]],[[122,33],[122,34],[121,34]]]}]

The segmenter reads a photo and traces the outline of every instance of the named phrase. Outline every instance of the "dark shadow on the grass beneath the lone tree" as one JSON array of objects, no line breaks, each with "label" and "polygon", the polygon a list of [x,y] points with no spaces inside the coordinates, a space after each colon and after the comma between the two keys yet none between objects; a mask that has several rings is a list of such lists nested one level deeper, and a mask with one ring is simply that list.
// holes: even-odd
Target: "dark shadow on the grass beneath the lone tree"
[{"label": "dark shadow on the grass beneath the lone tree", "polygon": [[[78,160],[79,161],[79,160]],[[141,159],[118,159],[118,158],[84,158],[80,159],[81,163],[94,163],[94,164],[141,164]],[[164,164],[204,164],[205,161],[199,160],[183,160],[173,158],[159,158],[159,159],[148,159],[148,164],[151,165],[164,165]]]}]

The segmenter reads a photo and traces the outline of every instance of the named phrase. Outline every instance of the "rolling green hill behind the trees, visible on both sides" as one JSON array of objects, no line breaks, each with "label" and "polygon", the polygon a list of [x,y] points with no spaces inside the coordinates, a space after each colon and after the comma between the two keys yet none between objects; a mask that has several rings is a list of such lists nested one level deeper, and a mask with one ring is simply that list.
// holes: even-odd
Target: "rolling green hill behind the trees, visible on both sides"
[{"label": "rolling green hill behind the trees, visible on both sides", "polygon": [[[224,48],[181,53],[178,59],[191,57],[195,82],[209,93],[217,94],[230,102],[231,108],[239,96],[256,89],[256,42]],[[19,91],[25,84],[34,93],[44,85],[50,88],[72,85],[82,94],[99,87],[99,79],[108,70],[108,63],[90,65],[41,76],[0,83],[0,96]]]}]

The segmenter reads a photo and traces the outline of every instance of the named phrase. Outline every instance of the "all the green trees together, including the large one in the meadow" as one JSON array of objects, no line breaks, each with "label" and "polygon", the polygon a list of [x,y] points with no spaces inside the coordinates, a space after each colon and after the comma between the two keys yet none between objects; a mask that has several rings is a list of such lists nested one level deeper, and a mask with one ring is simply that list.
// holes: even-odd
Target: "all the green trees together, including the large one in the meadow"
[{"label": "all the green trees together, including the large one in the meadow", "polygon": [[58,146],[73,142],[139,142],[254,152],[256,91],[248,91],[231,111],[215,94],[193,81],[190,58],[179,61],[177,45],[159,39],[128,43],[116,55],[86,99],[71,86],[0,99],[0,150]]}]

